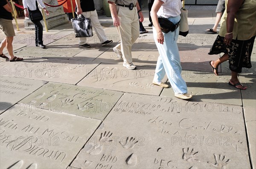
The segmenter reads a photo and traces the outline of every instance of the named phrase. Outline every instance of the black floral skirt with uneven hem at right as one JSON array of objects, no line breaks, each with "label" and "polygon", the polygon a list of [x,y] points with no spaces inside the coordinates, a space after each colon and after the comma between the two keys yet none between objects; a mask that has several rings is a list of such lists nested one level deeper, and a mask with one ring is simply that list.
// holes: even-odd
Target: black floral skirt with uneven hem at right
[{"label": "black floral skirt with uneven hem at right", "polygon": [[251,68],[250,56],[253,51],[255,36],[249,40],[232,40],[231,45],[224,44],[224,37],[218,35],[210,49],[209,55],[225,53],[229,56],[231,71],[241,73],[242,68]]}]

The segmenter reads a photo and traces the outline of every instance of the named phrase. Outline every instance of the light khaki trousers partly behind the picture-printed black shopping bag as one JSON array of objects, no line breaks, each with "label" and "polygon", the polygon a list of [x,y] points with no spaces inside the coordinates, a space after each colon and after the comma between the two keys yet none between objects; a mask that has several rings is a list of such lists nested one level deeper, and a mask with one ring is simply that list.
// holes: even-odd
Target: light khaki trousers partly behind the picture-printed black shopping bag
[{"label": "light khaki trousers partly behind the picture-printed black shopping bag", "polygon": [[[102,25],[99,22],[99,18],[98,18],[98,14],[97,11],[88,11],[88,12],[83,12],[82,15],[84,15],[84,17],[90,18],[92,21],[92,25],[93,25],[93,29],[97,34],[97,37],[99,38],[100,42],[103,43],[105,42],[107,39],[106,34],[102,28]],[[95,40],[96,42],[96,40]],[[79,45],[84,45],[86,44],[86,37],[79,37]]]}]

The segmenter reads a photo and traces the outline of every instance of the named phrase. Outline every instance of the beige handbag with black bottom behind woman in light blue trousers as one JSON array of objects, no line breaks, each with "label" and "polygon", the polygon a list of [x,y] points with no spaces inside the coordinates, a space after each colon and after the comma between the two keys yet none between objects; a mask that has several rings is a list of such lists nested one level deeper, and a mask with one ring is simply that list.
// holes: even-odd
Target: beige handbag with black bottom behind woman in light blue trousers
[{"label": "beige handbag with black bottom behind woman in light blue trousers", "polygon": [[188,10],[185,8],[180,9],[180,33],[179,35],[186,37],[189,33]]}]

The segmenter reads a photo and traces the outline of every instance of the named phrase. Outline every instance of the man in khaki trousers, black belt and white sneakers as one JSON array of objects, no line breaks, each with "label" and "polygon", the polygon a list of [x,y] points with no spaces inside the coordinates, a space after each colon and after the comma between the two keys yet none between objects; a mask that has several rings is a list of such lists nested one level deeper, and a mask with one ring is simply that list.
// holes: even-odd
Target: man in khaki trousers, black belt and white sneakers
[{"label": "man in khaki trousers, black belt and white sneakers", "polygon": [[108,0],[113,24],[121,38],[121,44],[116,45],[113,51],[124,60],[123,66],[135,69],[132,63],[131,46],[140,35],[140,22],[143,22],[143,14],[137,0]]}]

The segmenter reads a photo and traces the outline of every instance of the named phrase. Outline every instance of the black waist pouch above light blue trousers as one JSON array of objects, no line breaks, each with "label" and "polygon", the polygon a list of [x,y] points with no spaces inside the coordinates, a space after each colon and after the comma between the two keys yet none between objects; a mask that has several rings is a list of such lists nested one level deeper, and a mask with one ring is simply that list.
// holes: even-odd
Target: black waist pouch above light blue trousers
[{"label": "black waist pouch above light blue trousers", "polygon": [[162,32],[166,34],[169,33],[169,31],[175,31],[180,25],[180,22],[174,24],[164,17],[158,17],[158,23],[160,25]]}]

